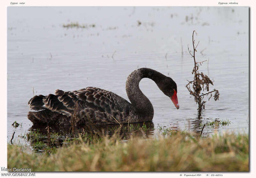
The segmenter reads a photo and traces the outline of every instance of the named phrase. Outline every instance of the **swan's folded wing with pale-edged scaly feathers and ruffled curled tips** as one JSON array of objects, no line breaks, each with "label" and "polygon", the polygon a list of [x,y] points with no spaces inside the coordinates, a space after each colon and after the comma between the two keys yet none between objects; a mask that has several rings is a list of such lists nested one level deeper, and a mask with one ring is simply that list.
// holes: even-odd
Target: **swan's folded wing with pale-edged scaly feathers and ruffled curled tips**
[{"label": "swan's folded wing with pale-edged scaly feathers and ruffled curled tips", "polygon": [[116,123],[113,117],[122,122],[129,116],[132,107],[115,93],[95,87],[66,92],[56,90],[55,95],[34,96],[28,102],[31,109],[49,109],[67,116],[74,113],[76,103],[79,121],[91,124]]}]

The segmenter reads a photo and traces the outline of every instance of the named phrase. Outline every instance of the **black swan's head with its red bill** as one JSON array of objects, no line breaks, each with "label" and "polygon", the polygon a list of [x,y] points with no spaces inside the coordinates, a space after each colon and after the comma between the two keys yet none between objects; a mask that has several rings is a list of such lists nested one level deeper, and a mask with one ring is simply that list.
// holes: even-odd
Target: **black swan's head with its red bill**
[{"label": "black swan's head with its red bill", "polygon": [[177,109],[180,108],[180,105],[178,103],[178,98],[177,98],[177,85],[175,81],[172,80],[170,77],[164,78],[162,81],[160,81],[157,86],[163,93],[170,97],[173,104]]}]

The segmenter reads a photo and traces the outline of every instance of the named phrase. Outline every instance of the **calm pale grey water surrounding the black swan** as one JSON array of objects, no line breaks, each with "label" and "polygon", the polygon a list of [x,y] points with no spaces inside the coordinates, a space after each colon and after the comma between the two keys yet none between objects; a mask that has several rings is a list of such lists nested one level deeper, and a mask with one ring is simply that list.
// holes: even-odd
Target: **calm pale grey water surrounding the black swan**
[{"label": "calm pale grey water surrounding the black swan", "polygon": [[[55,89],[88,86],[110,90],[128,100],[127,76],[148,67],[170,76],[178,86],[177,110],[154,81],[140,89],[154,106],[154,127],[200,131],[200,123],[229,120],[226,127],[206,127],[204,134],[249,131],[248,7],[8,7],[7,130],[29,132],[28,100]],[[78,23],[85,28],[64,28]],[[94,27],[92,26],[94,25]],[[207,101],[202,119],[185,85],[193,79],[192,32],[196,30],[199,71],[213,79],[220,100]],[[183,47],[183,58],[182,58]],[[34,93],[33,93],[34,92]],[[129,101],[129,100],[128,100]],[[12,123],[22,123],[13,128]],[[152,135],[155,132],[152,131]]]}]

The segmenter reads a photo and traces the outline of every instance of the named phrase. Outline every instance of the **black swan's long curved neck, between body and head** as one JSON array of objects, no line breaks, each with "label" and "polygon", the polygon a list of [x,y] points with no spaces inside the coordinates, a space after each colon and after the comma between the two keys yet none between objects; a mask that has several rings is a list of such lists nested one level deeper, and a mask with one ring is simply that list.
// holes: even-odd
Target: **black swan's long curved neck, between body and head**
[{"label": "black swan's long curved neck, between body and head", "polygon": [[138,115],[152,118],[154,116],[153,105],[140,90],[140,80],[143,78],[149,78],[158,84],[159,80],[163,76],[163,74],[149,68],[137,69],[128,76],[125,85],[126,93]]}]

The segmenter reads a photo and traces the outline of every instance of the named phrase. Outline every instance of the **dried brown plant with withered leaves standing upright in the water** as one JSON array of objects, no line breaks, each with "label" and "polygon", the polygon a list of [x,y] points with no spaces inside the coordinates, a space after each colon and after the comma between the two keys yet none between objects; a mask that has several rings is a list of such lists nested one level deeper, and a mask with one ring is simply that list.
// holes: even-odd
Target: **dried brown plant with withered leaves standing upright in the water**
[{"label": "dried brown plant with withered leaves standing upright in the water", "polygon": [[[194,33],[196,33],[195,30],[193,31],[193,35],[192,35],[193,55],[189,51],[189,47],[188,47],[188,52],[194,59],[195,66],[193,68],[192,74],[194,74],[195,76],[194,76],[193,81],[187,80],[188,84],[186,85],[186,88],[188,89],[189,94],[194,96],[195,102],[198,104],[198,110],[201,111],[202,109],[204,109],[204,106],[206,103],[206,101],[202,101],[204,99],[204,96],[211,95],[211,97],[212,97],[212,93],[215,92],[214,100],[216,101],[216,100],[219,100],[220,93],[217,89],[213,89],[212,91],[209,92],[209,85],[210,84],[213,85],[214,81],[210,80],[210,78],[207,75],[204,75],[202,72],[201,73],[198,72],[198,66],[196,64],[200,63],[200,65],[202,65],[202,63],[207,60],[204,60],[202,62],[196,62],[195,53],[197,52],[196,47],[198,46],[199,41],[195,47]],[[196,33],[196,35],[197,35],[197,33]],[[190,84],[192,85],[192,89],[190,88]],[[204,90],[206,90],[208,92],[205,94],[204,93],[201,94],[201,91],[204,91]],[[208,98],[208,101],[210,100],[211,97]]]}]

